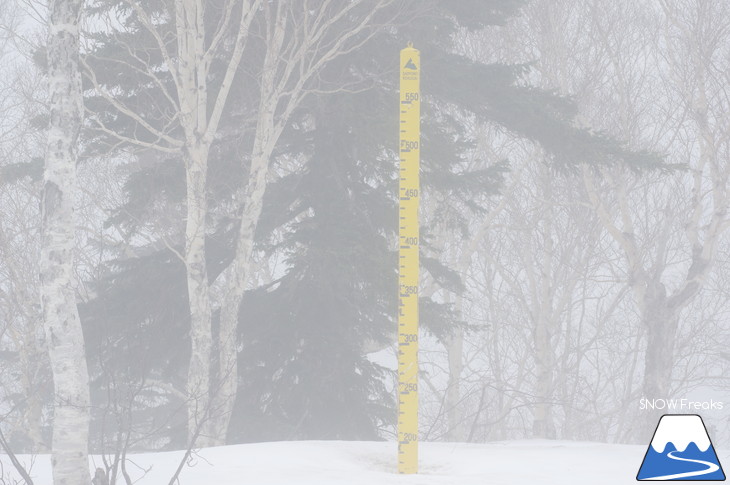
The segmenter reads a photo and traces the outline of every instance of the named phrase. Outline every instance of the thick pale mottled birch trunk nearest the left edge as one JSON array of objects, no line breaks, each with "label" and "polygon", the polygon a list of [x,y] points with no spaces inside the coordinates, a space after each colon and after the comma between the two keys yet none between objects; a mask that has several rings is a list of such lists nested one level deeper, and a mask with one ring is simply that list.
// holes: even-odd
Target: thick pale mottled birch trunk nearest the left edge
[{"label": "thick pale mottled birch trunk nearest the left edge", "polygon": [[81,0],[50,4],[50,123],[43,172],[41,306],[54,383],[55,485],[91,483],[89,376],[73,285],[77,142],[83,114],[79,62]]}]

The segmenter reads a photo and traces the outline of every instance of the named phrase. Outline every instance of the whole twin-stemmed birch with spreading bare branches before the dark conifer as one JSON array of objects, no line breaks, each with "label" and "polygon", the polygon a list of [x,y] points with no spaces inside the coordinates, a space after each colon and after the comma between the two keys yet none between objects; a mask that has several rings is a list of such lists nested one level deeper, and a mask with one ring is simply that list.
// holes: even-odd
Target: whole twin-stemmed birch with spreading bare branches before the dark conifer
[{"label": "whole twin-stemmed birch with spreading bare branches before the dark conifer", "polygon": [[[90,59],[85,73],[97,95],[136,127],[133,132],[143,134],[115,131],[103,116],[93,116],[93,123],[119,143],[181,156],[185,162],[185,244],[180,257],[186,267],[191,317],[188,435],[191,441],[200,435],[200,445],[222,444],[237,389],[239,307],[250,273],[253,236],[272,153],[294,110],[316,89],[317,74],[331,60],[362,44],[375,29],[376,14],[390,1],[228,0],[212,14],[202,1],[180,0],[166,12],[169,22],[160,22],[158,14],[142,2],[124,3],[145,35],[154,39],[161,64],[154,65],[147,50],[129,44],[131,61],[117,62],[125,68],[132,66],[159,89],[160,99],[154,102],[160,105],[161,122],[145,119],[132,103],[115,97],[108,82],[96,75]],[[209,29],[215,15],[219,15],[217,22],[212,22],[215,27]],[[230,108],[229,93],[234,78],[242,75],[240,71],[254,77],[258,105],[249,118],[253,132],[250,152],[241,160],[242,166],[248,166],[248,178],[233,203],[238,226],[235,257],[217,285],[223,288],[223,298],[219,337],[213,342],[211,322],[217,287],[208,276],[205,251],[209,231],[207,171],[211,146],[219,136],[221,118]],[[213,348],[219,355],[212,354]],[[211,367],[213,361],[219,363],[216,368]]]}]

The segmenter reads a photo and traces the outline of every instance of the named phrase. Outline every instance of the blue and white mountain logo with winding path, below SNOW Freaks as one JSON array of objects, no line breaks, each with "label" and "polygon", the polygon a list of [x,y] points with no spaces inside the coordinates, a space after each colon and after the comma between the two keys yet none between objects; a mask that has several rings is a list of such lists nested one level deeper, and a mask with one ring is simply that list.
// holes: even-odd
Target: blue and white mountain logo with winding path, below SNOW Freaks
[{"label": "blue and white mountain logo with winding path, below SNOW Freaks", "polygon": [[702,418],[696,414],[662,416],[636,479],[725,480]]}]

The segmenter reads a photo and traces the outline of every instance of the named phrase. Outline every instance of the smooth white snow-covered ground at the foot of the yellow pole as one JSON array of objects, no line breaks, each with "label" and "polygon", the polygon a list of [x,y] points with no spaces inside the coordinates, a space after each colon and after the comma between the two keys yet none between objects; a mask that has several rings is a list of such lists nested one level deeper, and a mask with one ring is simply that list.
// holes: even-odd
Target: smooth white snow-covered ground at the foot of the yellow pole
[{"label": "smooth white snow-covered ground at the foot of the yellow pole", "polygon": [[[183,470],[180,484],[635,484],[645,452],[645,446],[572,441],[421,443],[420,473],[398,475],[393,442],[255,443],[200,450],[192,466]],[[719,450],[718,455],[721,463],[730,463],[730,453]],[[150,469],[136,482],[139,485],[166,485],[181,456],[182,452],[134,455],[135,465],[128,468],[135,477],[141,475],[137,467]],[[93,459],[98,462],[98,457]],[[12,468],[7,457],[0,455],[0,461],[7,474]],[[32,475],[36,485],[51,484],[48,456],[36,457]]]}]

